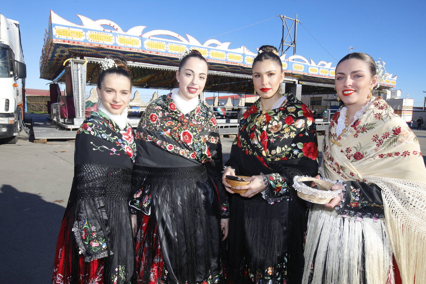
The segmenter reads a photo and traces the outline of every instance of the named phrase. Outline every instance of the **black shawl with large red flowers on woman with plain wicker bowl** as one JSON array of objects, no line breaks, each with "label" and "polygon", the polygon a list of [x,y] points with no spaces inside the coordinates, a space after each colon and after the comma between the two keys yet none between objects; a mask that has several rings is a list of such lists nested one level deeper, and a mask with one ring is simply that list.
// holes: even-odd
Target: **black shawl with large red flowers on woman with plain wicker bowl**
[{"label": "black shawl with large red flowers on woman with plain wicker bowl", "polygon": [[311,111],[294,95],[259,122],[262,116],[260,100],[242,115],[227,165],[243,174],[265,174],[271,191],[264,198],[273,203],[288,197],[294,175],[317,173],[317,134]]}]

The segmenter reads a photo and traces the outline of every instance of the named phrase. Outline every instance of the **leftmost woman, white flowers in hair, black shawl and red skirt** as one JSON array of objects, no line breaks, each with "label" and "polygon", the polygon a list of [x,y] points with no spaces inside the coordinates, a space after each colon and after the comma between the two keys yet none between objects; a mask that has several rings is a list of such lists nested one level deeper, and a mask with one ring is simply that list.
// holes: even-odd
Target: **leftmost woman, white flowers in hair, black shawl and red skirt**
[{"label": "leftmost woman, white flowers in hair, black shawl and red skirt", "polygon": [[53,283],[131,283],[128,202],[136,155],[127,123],[131,87],[126,60],[109,55],[98,75],[98,110],[75,138],[74,179],[56,245]]}]

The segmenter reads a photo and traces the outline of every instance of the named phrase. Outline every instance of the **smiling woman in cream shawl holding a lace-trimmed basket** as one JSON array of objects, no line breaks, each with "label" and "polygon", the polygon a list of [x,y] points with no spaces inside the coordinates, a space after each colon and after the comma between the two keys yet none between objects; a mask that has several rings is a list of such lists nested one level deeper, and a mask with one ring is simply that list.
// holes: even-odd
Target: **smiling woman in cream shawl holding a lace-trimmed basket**
[{"label": "smiling woman in cream shawl holding a lace-trimmed basket", "polygon": [[417,138],[371,95],[377,75],[369,55],[343,57],[335,84],[345,106],[325,134],[320,172],[340,180],[333,189],[343,193],[311,207],[303,283],[401,283],[392,252],[402,283],[423,283],[426,169]]}]

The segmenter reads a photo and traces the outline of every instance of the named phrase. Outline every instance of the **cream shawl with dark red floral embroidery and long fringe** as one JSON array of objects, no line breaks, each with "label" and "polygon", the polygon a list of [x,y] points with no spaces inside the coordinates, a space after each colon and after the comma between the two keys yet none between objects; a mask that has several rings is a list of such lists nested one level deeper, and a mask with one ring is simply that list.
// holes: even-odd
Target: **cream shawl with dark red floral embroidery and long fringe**
[{"label": "cream shawl with dark red floral embroidery and long fringe", "polygon": [[325,176],[382,188],[386,230],[403,283],[412,284],[414,277],[416,283],[425,281],[426,169],[417,138],[380,97],[341,138],[336,135],[339,115],[324,138]]}]

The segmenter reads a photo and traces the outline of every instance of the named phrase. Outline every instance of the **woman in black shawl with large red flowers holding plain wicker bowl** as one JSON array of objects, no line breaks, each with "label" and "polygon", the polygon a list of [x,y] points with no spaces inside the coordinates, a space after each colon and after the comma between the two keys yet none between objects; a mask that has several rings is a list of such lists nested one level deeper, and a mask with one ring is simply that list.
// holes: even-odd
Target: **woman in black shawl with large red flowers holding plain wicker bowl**
[{"label": "woman in black shawl with large red flowers holding plain wicker bowl", "polygon": [[248,192],[230,200],[227,273],[231,283],[300,283],[306,203],[291,187],[295,175],[316,175],[317,134],[311,111],[294,95],[281,95],[282,62],[262,46],[253,62],[260,99],[240,120],[226,175],[250,176]]}]

